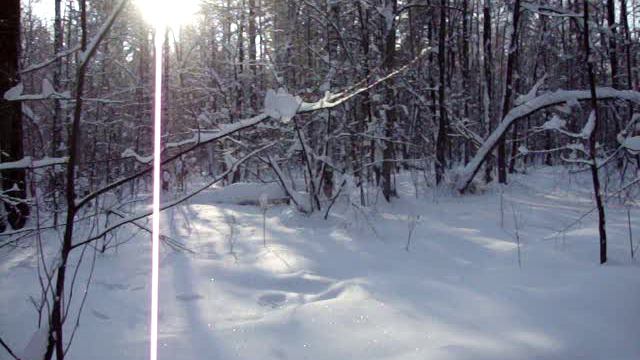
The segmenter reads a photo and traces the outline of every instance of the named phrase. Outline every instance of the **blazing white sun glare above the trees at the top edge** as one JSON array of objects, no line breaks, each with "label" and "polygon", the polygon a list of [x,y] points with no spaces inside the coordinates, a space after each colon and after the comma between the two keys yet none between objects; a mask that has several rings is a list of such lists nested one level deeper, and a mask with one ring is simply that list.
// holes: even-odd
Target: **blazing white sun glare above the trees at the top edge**
[{"label": "blazing white sun glare above the trees at the top edge", "polygon": [[201,0],[136,0],[146,21],[155,27],[175,30],[194,20],[200,3]]}]

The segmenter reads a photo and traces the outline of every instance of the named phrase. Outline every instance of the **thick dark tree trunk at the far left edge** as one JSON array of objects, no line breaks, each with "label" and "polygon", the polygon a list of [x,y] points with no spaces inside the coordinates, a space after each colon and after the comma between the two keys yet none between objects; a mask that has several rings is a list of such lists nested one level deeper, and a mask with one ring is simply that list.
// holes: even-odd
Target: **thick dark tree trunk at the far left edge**
[{"label": "thick dark tree trunk at the far left edge", "polygon": [[[20,102],[7,101],[4,93],[19,83],[18,57],[20,55],[20,1],[5,0],[0,5],[0,162],[16,161],[23,157],[22,107]],[[0,173],[5,195],[26,199],[24,169],[4,170]],[[15,190],[15,189],[17,190]],[[14,189],[14,190],[12,190]],[[29,217],[29,206],[4,204],[7,220],[13,229],[24,227]],[[5,219],[0,218],[0,231]]]}]

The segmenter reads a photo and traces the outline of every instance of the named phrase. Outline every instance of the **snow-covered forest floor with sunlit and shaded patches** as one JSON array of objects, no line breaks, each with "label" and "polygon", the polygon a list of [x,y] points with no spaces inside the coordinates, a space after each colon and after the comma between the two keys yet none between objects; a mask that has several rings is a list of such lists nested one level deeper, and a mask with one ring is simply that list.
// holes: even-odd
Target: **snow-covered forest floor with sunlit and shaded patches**
[{"label": "snow-covered forest floor with sunlit and shaded patches", "polygon": [[[586,175],[545,168],[504,190],[419,199],[399,179],[392,204],[338,201],[328,221],[274,206],[266,247],[258,207],[195,197],[163,217],[195,253],[162,249],[160,359],[640,359],[626,209],[609,204],[605,266],[595,213],[554,235],[592,208]],[[98,255],[69,359],[146,358],[149,245],[140,232]],[[0,250],[0,334],[18,349],[36,327],[33,252]]]}]

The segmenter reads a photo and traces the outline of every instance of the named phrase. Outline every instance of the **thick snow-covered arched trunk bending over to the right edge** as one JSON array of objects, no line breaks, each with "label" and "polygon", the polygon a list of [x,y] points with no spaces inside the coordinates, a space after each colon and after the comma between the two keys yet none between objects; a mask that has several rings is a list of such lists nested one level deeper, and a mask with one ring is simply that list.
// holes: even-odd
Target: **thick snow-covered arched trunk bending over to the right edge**
[{"label": "thick snow-covered arched trunk bending over to the right edge", "polygon": [[[601,100],[621,99],[640,104],[640,92],[633,90],[616,90],[610,87],[601,87],[596,89],[596,97]],[[480,169],[485,158],[515,121],[549,106],[562,103],[573,103],[580,100],[589,100],[590,98],[591,92],[589,90],[558,90],[542,94],[512,108],[504,119],[502,119],[500,125],[498,125],[498,127],[491,133],[489,138],[484,141],[484,144],[480,149],[478,149],[474,158],[467,164],[467,166],[464,167],[464,169],[462,169],[459,174],[458,181],[456,182],[456,188],[458,191],[464,193],[467,186],[471,183],[471,180],[473,180],[474,176]],[[588,129],[583,129],[583,132],[585,130]]]}]

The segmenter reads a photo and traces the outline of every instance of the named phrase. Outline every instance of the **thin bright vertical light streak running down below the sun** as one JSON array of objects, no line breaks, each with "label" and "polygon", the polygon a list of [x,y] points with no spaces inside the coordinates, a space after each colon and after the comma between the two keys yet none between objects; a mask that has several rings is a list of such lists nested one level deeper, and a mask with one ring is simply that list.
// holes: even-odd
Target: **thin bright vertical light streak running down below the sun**
[{"label": "thin bright vertical light streak running down below the sun", "polygon": [[151,227],[151,326],[149,359],[158,359],[158,279],[160,262],[160,154],[162,138],[162,45],[164,26],[155,25],[155,95],[153,126],[153,219]]}]

